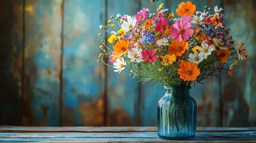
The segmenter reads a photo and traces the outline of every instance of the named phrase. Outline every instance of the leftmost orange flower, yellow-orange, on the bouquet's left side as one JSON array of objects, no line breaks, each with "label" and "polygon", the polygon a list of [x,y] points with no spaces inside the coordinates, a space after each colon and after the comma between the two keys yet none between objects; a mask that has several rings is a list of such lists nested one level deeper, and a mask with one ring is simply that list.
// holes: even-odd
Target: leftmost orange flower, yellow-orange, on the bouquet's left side
[{"label": "leftmost orange flower, yellow-orange, on the bouquet's left side", "polygon": [[129,41],[121,39],[114,46],[114,54],[120,58],[124,53],[128,51]]}]

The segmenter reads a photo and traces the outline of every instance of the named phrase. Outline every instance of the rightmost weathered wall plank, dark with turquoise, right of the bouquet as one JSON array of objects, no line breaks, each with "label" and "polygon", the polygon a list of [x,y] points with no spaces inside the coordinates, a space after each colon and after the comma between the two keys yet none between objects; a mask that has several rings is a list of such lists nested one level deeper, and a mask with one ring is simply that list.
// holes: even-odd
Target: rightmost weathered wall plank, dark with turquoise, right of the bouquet
[{"label": "rightmost weathered wall plank, dark with turquoise, right of the bouquet", "polygon": [[252,126],[256,123],[256,2],[225,0],[224,5],[225,23],[233,38],[245,43],[249,55],[245,61],[239,61],[231,77],[224,74],[223,125]]}]

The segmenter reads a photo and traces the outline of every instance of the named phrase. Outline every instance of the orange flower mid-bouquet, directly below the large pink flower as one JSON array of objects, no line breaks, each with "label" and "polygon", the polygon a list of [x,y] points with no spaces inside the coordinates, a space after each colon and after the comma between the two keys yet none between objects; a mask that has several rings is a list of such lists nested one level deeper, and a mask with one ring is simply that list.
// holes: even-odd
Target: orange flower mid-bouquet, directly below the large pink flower
[{"label": "orange flower mid-bouquet, directly below the large pink flower", "polygon": [[172,40],[172,43],[168,46],[169,54],[175,54],[181,56],[186,49],[188,49],[188,42]]}]

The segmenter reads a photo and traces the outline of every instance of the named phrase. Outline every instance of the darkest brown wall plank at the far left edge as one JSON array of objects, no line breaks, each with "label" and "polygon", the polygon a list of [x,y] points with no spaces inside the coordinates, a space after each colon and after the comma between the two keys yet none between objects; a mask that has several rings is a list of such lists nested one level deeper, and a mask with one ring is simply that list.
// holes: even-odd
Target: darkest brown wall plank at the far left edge
[{"label": "darkest brown wall plank at the far left edge", "polygon": [[0,124],[22,125],[23,1],[0,1]]}]

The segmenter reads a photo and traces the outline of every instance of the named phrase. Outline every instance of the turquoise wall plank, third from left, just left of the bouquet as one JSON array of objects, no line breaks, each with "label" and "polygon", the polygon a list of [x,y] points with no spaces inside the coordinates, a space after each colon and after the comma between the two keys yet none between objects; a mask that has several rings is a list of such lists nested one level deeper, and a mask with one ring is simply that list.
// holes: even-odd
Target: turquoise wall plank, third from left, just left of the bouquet
[{"label": "turquoise wall plank, third from left, just left of the bouquet", "polygon": [[62,126],[103,126],[105,67],[100,53],[99,25],[105,3],[64,2]]}]

